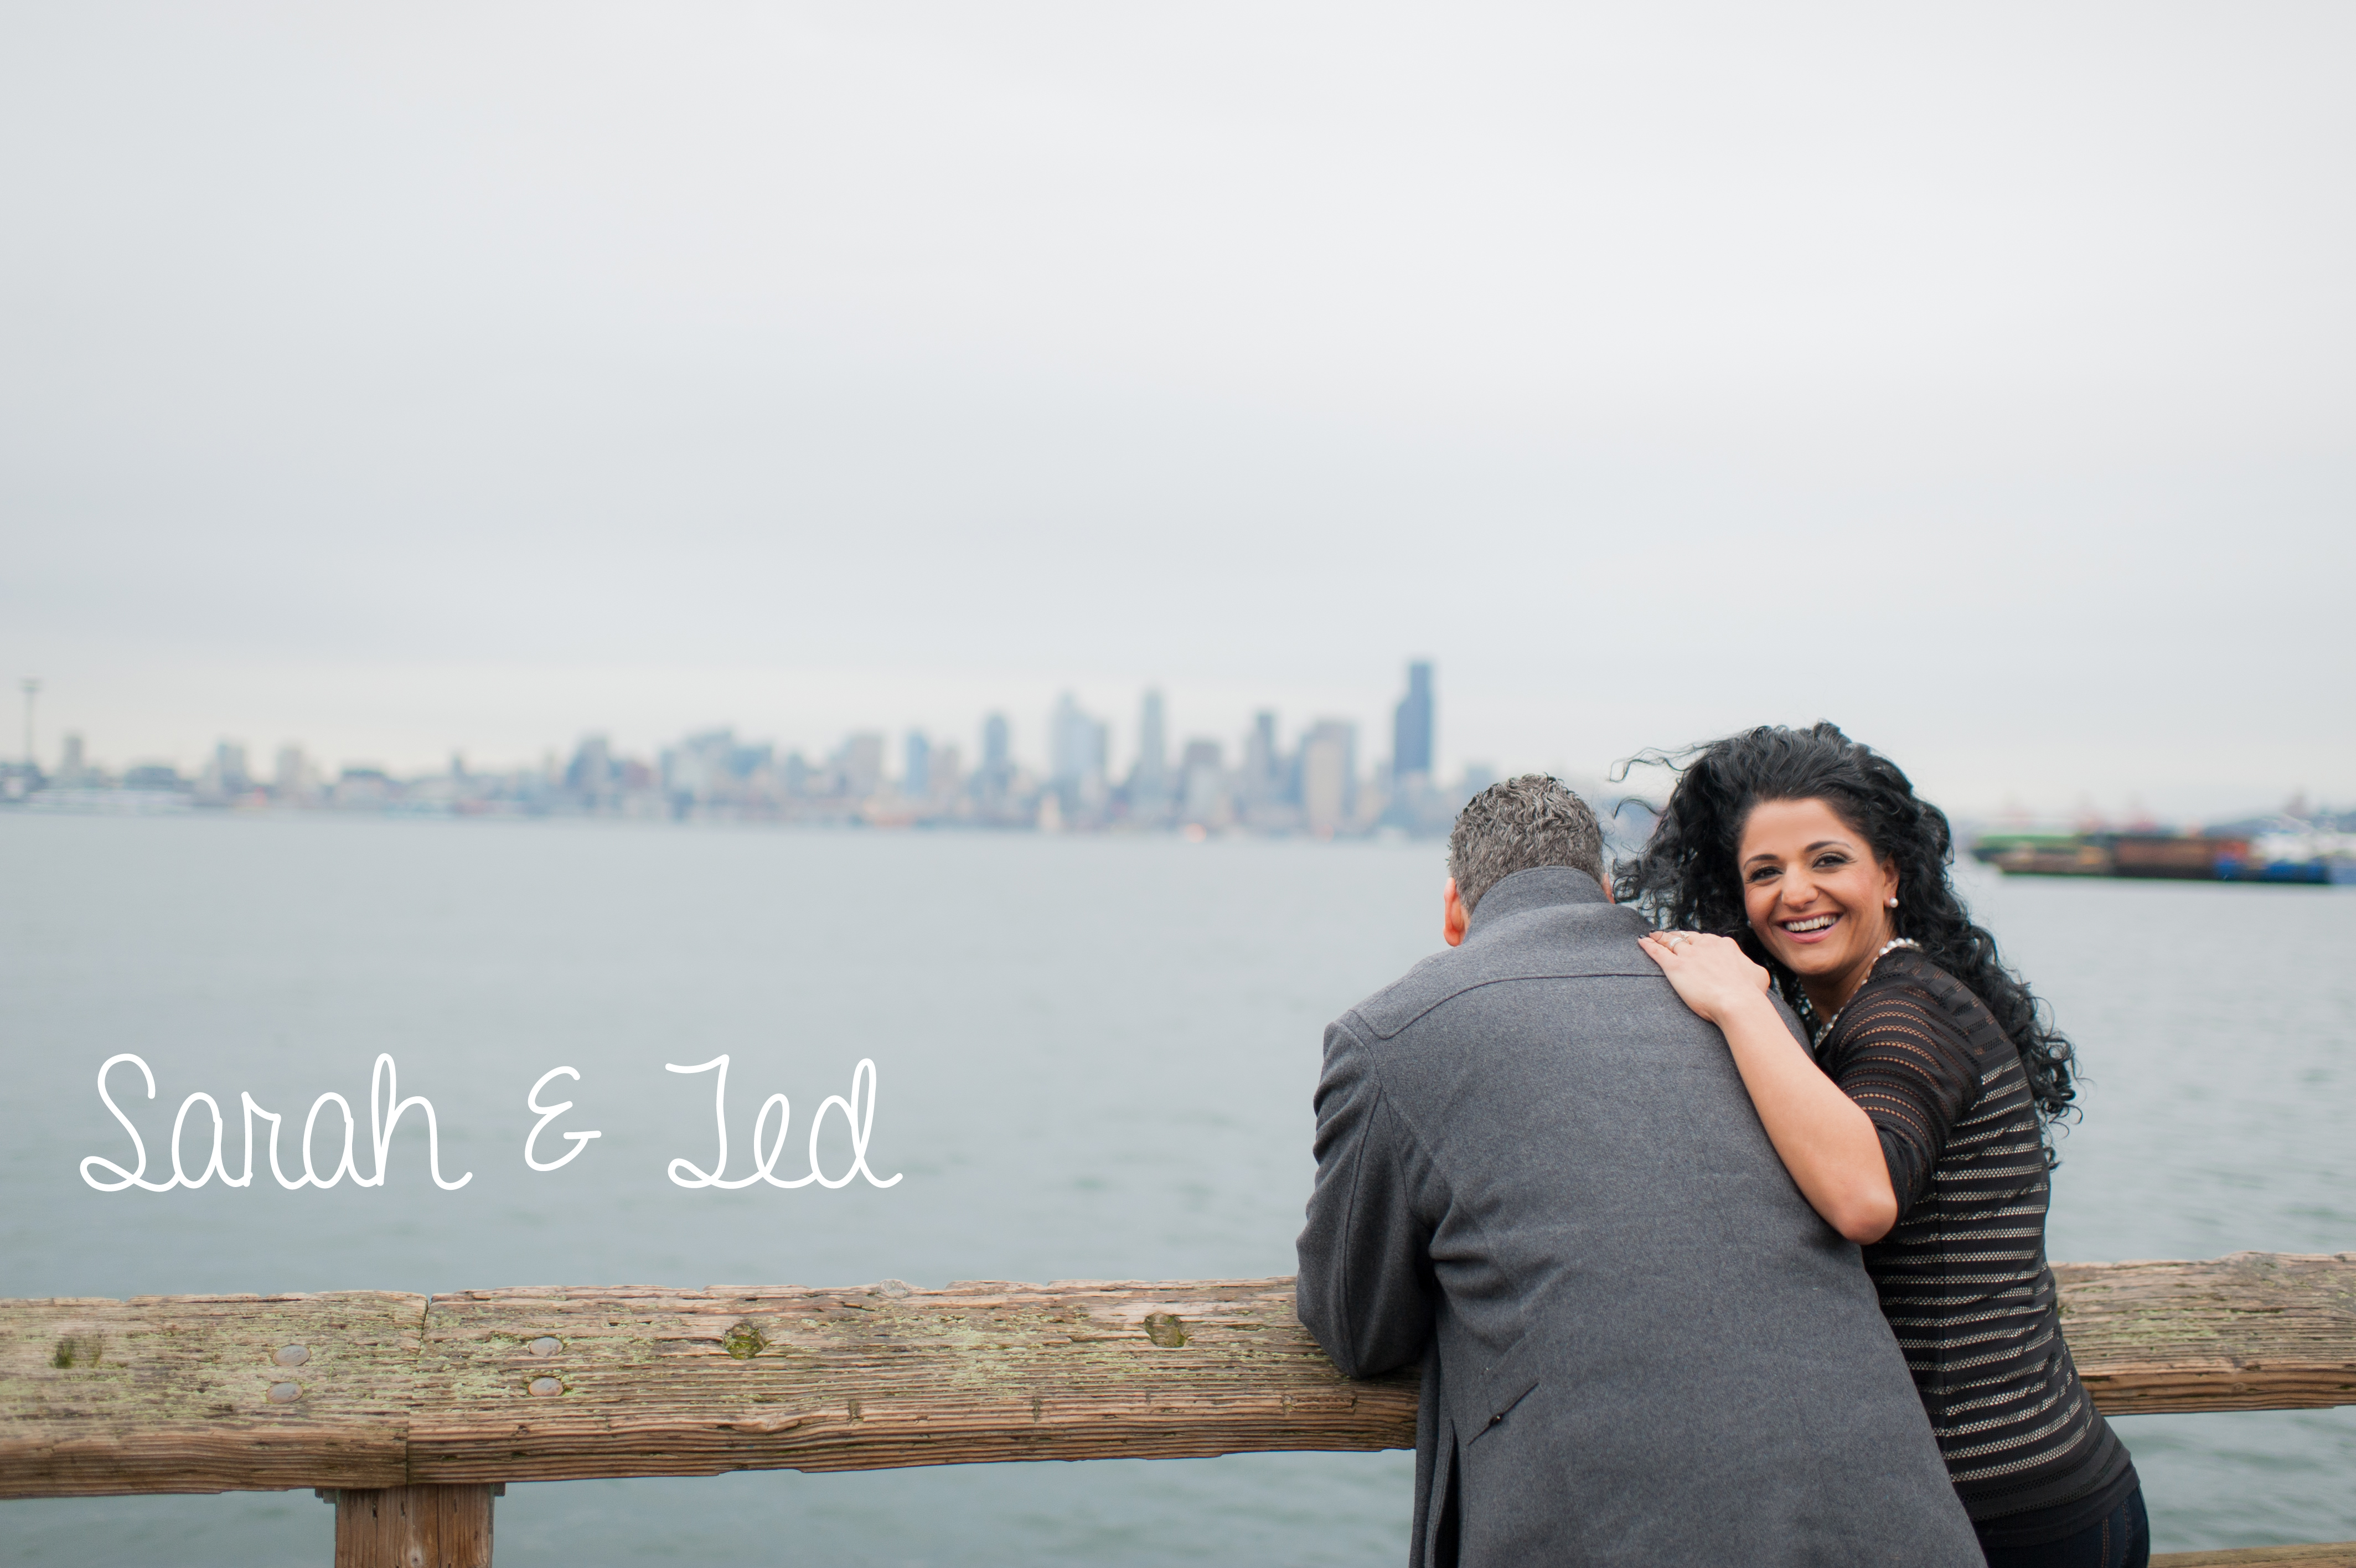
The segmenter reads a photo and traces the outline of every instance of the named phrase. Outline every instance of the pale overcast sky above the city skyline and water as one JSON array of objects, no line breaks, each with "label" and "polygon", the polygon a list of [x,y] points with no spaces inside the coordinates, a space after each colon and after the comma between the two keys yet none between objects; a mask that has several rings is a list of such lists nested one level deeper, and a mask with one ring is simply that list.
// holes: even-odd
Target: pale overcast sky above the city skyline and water
[{"label": "pale overcast sky above the city skyline and water", "polygon": [[1430,655],[1451,764],[2356,804],[2351,80],[2347,5],[12,5],[0,660],[118,766],[1063,686],[1126,762],[1147,681],[1371,757]]}]

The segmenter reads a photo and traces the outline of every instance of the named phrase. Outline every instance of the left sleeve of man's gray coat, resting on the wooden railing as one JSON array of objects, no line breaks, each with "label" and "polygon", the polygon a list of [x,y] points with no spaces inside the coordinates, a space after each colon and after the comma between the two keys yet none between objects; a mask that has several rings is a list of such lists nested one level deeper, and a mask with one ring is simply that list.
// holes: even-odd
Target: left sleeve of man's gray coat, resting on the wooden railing
[{"label": "left sleeve of man's gray coat, resting on the wooden railing", "polygon": [[1301,1231],[1301,1323],[1345,1377],[1423,1356],[1437,1280],[1416,1217],[1411,1134],[1348,1021],[1326,1028],[1317,1080],[1317,1186]]}]

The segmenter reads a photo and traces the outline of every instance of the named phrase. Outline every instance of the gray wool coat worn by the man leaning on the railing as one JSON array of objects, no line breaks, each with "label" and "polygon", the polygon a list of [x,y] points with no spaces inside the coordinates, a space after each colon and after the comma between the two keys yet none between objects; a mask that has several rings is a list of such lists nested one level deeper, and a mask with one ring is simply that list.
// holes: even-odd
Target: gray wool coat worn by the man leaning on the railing
[{"label": "gray wool coat worn by the man leaning on the railing", "polygon": [[1423,1363],[1416,1568],[1979,1568],[1857,1247],[1569,868],[1326,1028],[1301,1320]]}]

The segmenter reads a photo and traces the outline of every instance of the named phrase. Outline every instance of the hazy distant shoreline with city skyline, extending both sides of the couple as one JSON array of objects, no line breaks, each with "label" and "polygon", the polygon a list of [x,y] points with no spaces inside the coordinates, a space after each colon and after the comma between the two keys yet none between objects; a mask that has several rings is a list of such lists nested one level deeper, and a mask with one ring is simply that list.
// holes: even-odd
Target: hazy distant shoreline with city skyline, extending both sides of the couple
[{"label": "hazy distant shoreline with city skyline, extending both sides of the couple", "polygon": [[[24,698],[24,736],[35,736],[35,693],[47,686],[33,677],[19,681]],[[674,731],[667,738],[631,745],[613,731],[594,729],[570,745],[540,747],[537,757],[469,757],[462,747],[438,762],[386,764],[382,757],[330,757],[302,740],[276,747],[243,738],[221,738],[188,766],[186,757],[108,759],[87,745],[87,736],[61,729],[54,738],[54,766],[40,766],[49,790],[85,790],[92,785],[184,792],[205,804],[252,802],[358,809],[502,809],[502,811],[613,811],[636,816],[770,816],[770,818],[841,818],[907,825],[916,821],[966,825],[1204,825],[1260,832],[1371,832],[1402,828],[1437,832],[1442,809],[1454,809],[1470,790],[1517,771],[1546,771],[1576,780],[1597,802],[1628,797],[1659,799],[1668,776],[1635,766],[1619,773],[1635,752],[1607,764],[1491,764],[1468,757],[1454,769],[1440,766],[1435,663],[1407,660],[1397,696],[1381,724],[1317,714],[1286,717],[1275,707],[1253,707],[1249,719],[1216,726],[1173,729],[1171,703],[1162,686],[1145,686],[1133,700],[1136,719],[1124,731],[1117,712],[1093,712],[1074,689],[1058,691],[1053,707],[1037,726],[1025,726],[1008,710],[990,710],[959,733],[954,726],[879,726],[855,724],[827,743],[787,743],[735,724]],[[1119,736],[1136,740],[1121,750]],[[1030,747],[1020,738],[1034,738]],[[1376,740],[1388,738],[1388,747]],[[968,747],[971,740],[971,747]],[[1126,757],[1126,764],[1121,762]],[[1411,764],[1399,785],[1397,759]],[[264,764],[264,759],[269,759]],[[752,762],[747,762],[752,759]],[[0,762],[0,795],[24,797],[19,757]],[[582,785],[582,771],[610,769],[610,790]],[[752,790],[709,790],[697,780],[723,773],[744,778],[759,771]],[[997,778],[987,792],[985,780]],[[1209,780],[1209,783],[1204,783]],[[1918,776],[1920,785],[1920,776]],[[1046,795],[1055,809],[1041,818]],[[1932,799],[1937,795],[1925,790]],[[59,804],[52,795],[49,802]],[[1371,802],[1364,811],[1359,802]],[[1414,804],[1399,804],[1399,802]],[[2043,821],[2071,825],[2182,825],[2250,821],[2288,813],[2292,818],[2332,816],[2332,795],[2311,795],[2304,785],[2288,792],[2264,788],[2241,790],[2208,811],[2158,811],[2130,792],[2116,802],[2080,795],[2073,802],[2031,804],[2010,797],[2003,804],[1941,802],[1958,821]],[[785,809],[789,804],[789,809]],[[952,809],[954,806],[954,809]]]}]

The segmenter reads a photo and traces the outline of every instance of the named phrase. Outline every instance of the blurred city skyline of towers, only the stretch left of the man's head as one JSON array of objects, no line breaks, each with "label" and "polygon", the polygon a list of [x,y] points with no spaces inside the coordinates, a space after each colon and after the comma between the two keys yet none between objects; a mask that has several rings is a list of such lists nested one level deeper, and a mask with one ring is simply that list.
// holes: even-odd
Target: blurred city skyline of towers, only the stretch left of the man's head
[{"label": "blurred city skyline of towers, only the stretch left of the man's head", "polygon": [[[33,698],[21,681],[26,747],[38,752]],[[1015,755],[1015,726],[990,712],[971,752],[945,733],[893,736],[855,729],[818,755],[780,747],[733,726],[681,736],[653,759],[582,736],[570,757],[549,750],[537,766],[469,766],[452,752],[441,771],[398,773],[375,764],[335,766],[299,743],[276,747],[264,766],[243,740],[217,740],[207,762],[181,773],[170,762],[106,766],[80,731],[64,731],[57,764],[38,757],[0,766],[0,804],[82,811],[193,806],[299,806],[434,811],[459,816],[671,816],[735,821],[862,821],[872,825],[968,828],[1166,828],[1352,837],[1378,830],[1437,837],[1456,806],[1496,773],[1470,764],[1454,783],[1432,771],[1432,663],[1411,660],[1392,707],[1390,752],[1362,766],[1359,726],[1315,717],[1291,736],[1275,710],[1256,710],[1230,750],[1223,738],[1171,740],[1159,689],[1138,696],[1136,750],[1114,769],[1112,724],[1058,696],[1046,719],[1046,764]]]}]

